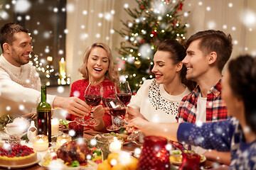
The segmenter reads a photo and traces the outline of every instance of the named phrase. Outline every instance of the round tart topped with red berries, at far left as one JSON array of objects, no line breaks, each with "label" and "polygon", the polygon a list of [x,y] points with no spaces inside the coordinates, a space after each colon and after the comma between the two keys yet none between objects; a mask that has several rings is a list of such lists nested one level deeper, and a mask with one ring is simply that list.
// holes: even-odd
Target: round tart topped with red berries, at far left
[{"label": "round tart topped with red berries, at far left", "polygon": [[36,150],[26,145],[9,145],[0,147],[0,164],[3,166],[18,166],[36,162]]}]

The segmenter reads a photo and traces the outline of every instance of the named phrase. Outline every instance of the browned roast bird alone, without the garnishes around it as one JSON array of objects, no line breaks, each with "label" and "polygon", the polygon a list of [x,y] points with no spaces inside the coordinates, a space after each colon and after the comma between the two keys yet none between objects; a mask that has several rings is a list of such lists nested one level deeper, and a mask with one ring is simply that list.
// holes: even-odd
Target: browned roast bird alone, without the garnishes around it
[{"label": "browned roast bird alone, without the garnishes around it", "polygon": [[72,164],[73,161],[78,161],[80,164],[86,163],[87,154],[92,154],[92,151],[85,142],[65,142],[57,150],[57,157],[63,159],[65,163],[68,162],[68,164]]}]

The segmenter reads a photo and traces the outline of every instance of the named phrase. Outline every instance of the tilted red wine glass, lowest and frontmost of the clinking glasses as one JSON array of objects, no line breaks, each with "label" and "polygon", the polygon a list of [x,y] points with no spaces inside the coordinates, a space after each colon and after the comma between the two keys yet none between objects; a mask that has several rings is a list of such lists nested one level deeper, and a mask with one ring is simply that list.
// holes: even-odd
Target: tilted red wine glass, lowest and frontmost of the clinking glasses
[{"label": "tilted red wine glass, lowest and frontmost of the clinking glasses", "polygon": [[117,98],[116,95],[112,94],[102,99],[105,106],[109,109],[112,117],[112,125],[107,127],[109,131],[119,130],[121,127],[114,124],[114,116],[124,117],[126,108],[124,103]]}]

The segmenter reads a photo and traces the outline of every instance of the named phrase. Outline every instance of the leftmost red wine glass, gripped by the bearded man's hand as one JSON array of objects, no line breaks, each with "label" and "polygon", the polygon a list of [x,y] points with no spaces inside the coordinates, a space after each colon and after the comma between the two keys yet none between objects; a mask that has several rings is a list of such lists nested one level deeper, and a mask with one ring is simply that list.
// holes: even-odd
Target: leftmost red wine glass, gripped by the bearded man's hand
[{"label": "leftmost red wine glass, gripped by the bearded man's hand", "polygon": [[[85,89],[85,102],[91,106],[91,113],[94,106],[98,106],[100,101],[102,100],[103,87],[101,84],[92,84],[90,83]],[[90,125],[93,126],[95,124],[95,120],[93,118],[88,118],[85,120],[82,118],[75,118],[75,121],[81,125]]]}]

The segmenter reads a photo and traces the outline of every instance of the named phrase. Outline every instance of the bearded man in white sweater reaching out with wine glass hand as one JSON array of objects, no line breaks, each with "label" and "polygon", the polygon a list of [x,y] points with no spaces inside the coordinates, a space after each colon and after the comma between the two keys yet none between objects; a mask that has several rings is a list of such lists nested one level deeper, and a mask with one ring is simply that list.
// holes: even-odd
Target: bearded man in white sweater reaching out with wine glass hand
[{"label": "bearded man in white sweater reaching out with wine glass hand", "polygon": [[[28,30],[16,23],[6,23],[0,30],[0,116],[14,117],[31,113],[41,101],[41,80],[29,62],[33,51]],[[77,97],[47,95],[53,108],[63,108],[80,117],[90,113],[90,106]]]}]

